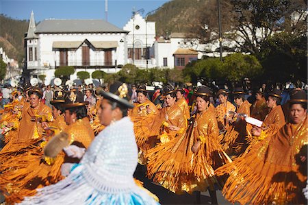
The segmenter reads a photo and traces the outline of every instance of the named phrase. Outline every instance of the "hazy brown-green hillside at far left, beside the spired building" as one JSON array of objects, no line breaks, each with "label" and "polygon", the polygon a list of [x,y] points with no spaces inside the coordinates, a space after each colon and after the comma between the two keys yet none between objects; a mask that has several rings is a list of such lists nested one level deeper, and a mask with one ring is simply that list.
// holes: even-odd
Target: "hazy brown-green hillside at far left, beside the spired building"
[{"label": "hazy brown-green hillside at far left, beside the spired building", "polygon": [[3,47],[9,58],[18,60],[24,58],[23,38],[28,30],[29,21],[16,20],[0,14],[0,47]]}]

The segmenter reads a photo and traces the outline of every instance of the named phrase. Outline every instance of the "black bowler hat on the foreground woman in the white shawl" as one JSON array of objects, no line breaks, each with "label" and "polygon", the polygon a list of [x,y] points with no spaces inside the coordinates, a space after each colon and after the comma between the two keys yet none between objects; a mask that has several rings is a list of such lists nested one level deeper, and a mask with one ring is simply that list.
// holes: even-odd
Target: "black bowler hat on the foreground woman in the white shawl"
[{"label": "black bowler hat on the foreground woman in the white shawl", "polygon": [[117,81],[110,85],[109,92],[103,90],[100,91],[100,94],[109,99],[110,101],[115,101],[127,108],[133,108],[133,104],[129,102],[131,97],[131,88],[127,84]]}]

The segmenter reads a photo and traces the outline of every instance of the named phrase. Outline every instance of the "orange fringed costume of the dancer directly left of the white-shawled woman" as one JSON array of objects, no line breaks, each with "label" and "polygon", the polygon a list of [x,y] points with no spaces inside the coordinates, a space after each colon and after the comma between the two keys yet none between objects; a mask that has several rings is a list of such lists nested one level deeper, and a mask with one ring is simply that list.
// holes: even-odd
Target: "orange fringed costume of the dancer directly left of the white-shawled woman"
[{"label": "orange fringed costume of the dancer directly left of the white-shawled woman", "polygon": [[[89,132],[89,128],[90,124],[85,125],[85,120],[79,119],[68,125],[64,132],[68,133],[71,143],[88,148],[94,138],[94,133]],[[58,154],[52,160],[53,163],[42,159],[42,148],[37,145],[28,145],[16,153],[18,156],[1,165],[0,188],[7,196],[6,202],[21,202],[23,197],[34,195],[37,188],[64,178],[60,172],[61,165],[66,162],[64,152]]]}]

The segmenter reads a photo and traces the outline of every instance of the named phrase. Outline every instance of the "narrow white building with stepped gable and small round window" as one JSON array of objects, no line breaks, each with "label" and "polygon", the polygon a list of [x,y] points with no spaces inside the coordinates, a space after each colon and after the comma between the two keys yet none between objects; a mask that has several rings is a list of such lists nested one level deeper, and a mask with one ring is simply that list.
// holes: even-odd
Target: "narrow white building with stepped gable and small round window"
[{"label": "narrow white building with stepped gable and small round window", "polygon": [[157,67],[153,49],[151,49],[156,36],[155,22],[146,21],[136,13],[123,27],[123,30],[129,31],[126,38],[127,62],[140,68]]}]

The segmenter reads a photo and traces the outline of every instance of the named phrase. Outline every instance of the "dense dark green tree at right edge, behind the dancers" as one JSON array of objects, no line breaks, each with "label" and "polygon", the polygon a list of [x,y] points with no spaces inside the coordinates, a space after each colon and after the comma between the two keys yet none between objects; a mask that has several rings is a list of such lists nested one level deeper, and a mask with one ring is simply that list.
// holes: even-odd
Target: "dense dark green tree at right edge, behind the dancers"
[{"label": "dense dark green tree at right edge, behind the dancers", "polygon": [[307,36],[289,32],[274,34],[261,44],[259,59],[266,71],[264,80],[307,81]]}]

